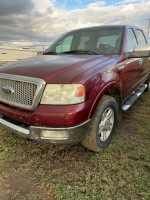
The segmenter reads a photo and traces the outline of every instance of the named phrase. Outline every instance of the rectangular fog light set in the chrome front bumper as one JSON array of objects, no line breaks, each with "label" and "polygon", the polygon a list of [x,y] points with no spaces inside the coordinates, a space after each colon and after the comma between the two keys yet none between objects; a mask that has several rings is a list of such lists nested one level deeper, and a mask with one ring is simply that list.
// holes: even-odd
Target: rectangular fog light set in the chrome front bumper
[{"label": "rectangular fog light set in the chrome front bumper", "polygon": [[42,139],[49,139],[49,140],[67,140],[69,138],[69,132],[68,131],[42,130],[41,131],[41,138]]}]

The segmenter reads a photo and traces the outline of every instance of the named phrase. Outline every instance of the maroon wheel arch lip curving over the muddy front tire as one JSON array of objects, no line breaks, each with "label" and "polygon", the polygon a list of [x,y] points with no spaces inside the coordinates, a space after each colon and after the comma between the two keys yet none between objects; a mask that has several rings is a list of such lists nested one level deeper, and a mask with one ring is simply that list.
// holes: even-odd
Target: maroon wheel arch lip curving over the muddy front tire
[{"label": "maroon wheel arch lip curving over the muddy front tire", "polygon": [[89,112],[89,116],[88,116],[89,119],[92,118],[92,116],[95,112],[95,109],[96,109],[98,103],[100,102],[102,96],[111,88],[115,88],[118,91],[118,93],[121,94],[121,87],[118,82],[112,81],[112,82],[108,83],[105,87],[103,87],[103,89],[98,93],[97,97],[95,98],[93,105],[91,107],[91,110]]}]

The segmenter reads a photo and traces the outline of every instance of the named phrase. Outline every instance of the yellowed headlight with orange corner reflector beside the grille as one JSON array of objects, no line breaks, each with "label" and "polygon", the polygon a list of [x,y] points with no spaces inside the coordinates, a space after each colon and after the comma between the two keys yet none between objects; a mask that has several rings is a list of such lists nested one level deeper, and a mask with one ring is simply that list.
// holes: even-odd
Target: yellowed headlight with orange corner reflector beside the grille
[{"label": "yellowed headlight with orange corner reflector beside the grille", "polygon": [[81,84],[47,84],[41,104],[68,105],[84,100],[85,90]]}]

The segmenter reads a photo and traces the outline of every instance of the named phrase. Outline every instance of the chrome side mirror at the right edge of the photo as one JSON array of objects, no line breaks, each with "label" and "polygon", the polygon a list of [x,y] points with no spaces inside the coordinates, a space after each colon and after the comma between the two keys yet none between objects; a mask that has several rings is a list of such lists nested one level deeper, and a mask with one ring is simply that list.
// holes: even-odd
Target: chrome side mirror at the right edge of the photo
[{"label": "chrome side mirror at the right edge of the photo", "polygon": [[144,58],[150,56],[150,45],[135,45],[133,52],[126,53],[126,58]]}]

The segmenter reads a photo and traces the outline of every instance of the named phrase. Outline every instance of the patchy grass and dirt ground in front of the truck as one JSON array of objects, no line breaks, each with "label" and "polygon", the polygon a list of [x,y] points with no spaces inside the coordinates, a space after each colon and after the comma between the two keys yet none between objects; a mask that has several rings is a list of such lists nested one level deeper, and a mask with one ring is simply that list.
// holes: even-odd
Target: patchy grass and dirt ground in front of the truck
[{"label": "patchy grass and dirt ground in front of the truck", "polygon": [[0,200],[150,200],[150,93],[100,153],[32,145],[0,130]]}]

